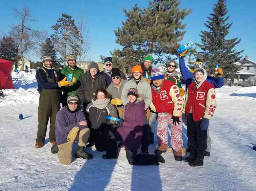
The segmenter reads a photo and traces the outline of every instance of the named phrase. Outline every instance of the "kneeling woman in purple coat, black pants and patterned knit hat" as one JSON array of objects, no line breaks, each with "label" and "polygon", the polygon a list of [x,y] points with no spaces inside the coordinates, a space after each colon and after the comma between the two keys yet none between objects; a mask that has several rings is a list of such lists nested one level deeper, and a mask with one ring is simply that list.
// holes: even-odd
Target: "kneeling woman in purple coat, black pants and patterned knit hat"
[{"label": "kneeling woman in purple coat, black pants and patterned knit hat", "polygon": [[118,158],[116,141],[123,141],[126,158],[131,165],[154,165],[164,163],[164,159],[156,150],[155,155],[137,155],[142,140],[143,126],[147,125],[145,102],[138,98],[139,93],[135,88],[130,88],[127,93],[129,103],[125,106],[123,119],[113,125],[106,134],[106,154],[103,159]]}]

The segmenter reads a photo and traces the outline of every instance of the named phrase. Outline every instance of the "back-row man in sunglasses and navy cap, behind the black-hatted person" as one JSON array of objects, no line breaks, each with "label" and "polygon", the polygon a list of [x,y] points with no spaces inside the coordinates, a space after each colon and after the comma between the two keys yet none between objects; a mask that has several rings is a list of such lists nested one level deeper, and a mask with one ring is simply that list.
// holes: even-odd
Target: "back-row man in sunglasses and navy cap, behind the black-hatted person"
[{"label": "back-row man in sunglasses and navy cap, behind the black-hatted person", "polygon": [[[109,85],[112,83],[111,74],[112,74],[112,69],[113,69],[113,60],[111,57],[105,58],[104,67],[105,67],[105,70],[102,71],[102,75],[106,79],[107,87],[109,87]],[[124,73],[122,71],[120,71],[119,69],[117,69],[117,70],[120,73],[121,79],[126,80]]]}]

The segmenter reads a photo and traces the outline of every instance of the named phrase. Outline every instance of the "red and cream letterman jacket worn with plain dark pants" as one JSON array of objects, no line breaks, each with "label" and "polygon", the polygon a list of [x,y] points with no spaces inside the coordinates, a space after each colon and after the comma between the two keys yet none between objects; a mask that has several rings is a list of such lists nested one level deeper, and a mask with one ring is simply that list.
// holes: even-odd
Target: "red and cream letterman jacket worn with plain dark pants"
[{"label": "red and cream letterman jacket worn with plain dark pants", "polygon": [[203,117],[211,119],[215,113],[216,106],[216,92],[211,83],[204,81],[198,89],[196,89],[194,82],[188,86],[183,109],[183,113],[186,116],[188,116],[192,107],[194,121],[200,121]]}]

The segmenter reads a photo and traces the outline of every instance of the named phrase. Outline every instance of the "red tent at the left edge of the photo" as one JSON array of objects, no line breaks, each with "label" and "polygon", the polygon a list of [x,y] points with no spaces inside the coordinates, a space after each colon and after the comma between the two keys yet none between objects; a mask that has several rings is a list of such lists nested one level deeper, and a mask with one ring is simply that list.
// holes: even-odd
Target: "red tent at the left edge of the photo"
[{"label": "red tent at the left edge of the photo", "polygon": [[0,89],[14,89],[11,76],[12,61],[0,58]]}]

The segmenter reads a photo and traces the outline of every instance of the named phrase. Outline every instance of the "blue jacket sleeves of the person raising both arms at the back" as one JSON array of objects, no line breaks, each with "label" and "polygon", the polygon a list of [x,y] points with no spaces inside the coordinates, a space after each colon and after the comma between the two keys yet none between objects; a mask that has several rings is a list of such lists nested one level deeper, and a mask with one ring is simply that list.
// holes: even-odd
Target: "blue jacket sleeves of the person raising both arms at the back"
[{"label": "blue jacket sleeves of the person raising both arms at the back", "polygon": [[[194,80],[194,73],[191,73],[189,69],[185,65],[184,57],[179,58],[179,66],[182,77],[185,80],[186,90],[188,89],[189,84],[191,84]],[[224,85],[223,76],[220,78],[215,78],[212,76],[207,76],[206,81],[210,82],[214,85],[214,88],[220,88]]]}]

